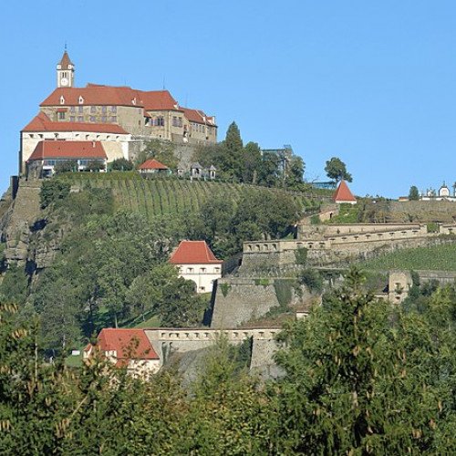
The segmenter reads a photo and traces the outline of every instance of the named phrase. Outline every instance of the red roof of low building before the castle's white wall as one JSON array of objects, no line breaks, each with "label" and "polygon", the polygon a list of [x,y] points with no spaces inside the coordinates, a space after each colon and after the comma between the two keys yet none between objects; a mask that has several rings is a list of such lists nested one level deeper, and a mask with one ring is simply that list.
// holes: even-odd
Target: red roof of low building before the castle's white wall
[{"label": "red roof of low building before the castle's white wall", "polygon": [[106,152],[99,141],[43,140],[36,144],[28,161],[45,159],[106,160],[106,158]]}]

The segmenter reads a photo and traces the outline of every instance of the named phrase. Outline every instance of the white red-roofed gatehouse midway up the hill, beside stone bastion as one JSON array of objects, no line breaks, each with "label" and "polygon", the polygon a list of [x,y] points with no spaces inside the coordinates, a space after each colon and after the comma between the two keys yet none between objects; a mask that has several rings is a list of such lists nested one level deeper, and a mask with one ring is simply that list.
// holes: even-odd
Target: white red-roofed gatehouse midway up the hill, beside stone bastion
[{"label": "white red-roofed gatehouse midway up the hill, beside stone bastion", "polygon": [[196,284],[197,293],[212,293],[214,281],[222,277],[223,261],[215,257],[205,241],[181,241],[170,263],[179,267],[181,277]]}]

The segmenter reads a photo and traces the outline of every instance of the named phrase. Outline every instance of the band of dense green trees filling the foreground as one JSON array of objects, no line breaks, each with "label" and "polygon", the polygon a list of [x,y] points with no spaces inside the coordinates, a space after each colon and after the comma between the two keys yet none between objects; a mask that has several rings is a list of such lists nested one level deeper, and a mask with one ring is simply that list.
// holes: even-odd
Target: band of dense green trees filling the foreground
[{"label": "band of dense green trees filling the foreground", "polygon": [[[456,293],[414,284],[399,308],[354,270],[285,326],[284,376],[247,375],[251,346],[221,339],[188,389],[92,358],[39,356],[36,323],[0,306],[2,454],[454,454]],[[189,394],[189,392],[191,394]]]}]

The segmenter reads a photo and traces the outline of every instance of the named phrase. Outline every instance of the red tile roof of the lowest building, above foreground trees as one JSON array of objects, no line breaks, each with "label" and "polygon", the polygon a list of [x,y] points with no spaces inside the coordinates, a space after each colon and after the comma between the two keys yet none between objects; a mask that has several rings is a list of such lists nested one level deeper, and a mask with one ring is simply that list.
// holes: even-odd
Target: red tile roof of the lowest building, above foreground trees
[{"label": "red tile roof of the lowest building, above foreground trees", "polygon": [[98,348],[115,350],[118,364],[121,360],[160,359],[143,329],[104,328],[98,334]]}]

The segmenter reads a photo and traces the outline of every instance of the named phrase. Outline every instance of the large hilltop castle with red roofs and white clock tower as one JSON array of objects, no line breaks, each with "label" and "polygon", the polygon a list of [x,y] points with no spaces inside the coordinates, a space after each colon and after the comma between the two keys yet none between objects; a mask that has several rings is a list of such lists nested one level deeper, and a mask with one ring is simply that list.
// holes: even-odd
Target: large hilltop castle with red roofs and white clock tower
[{"label": "large hilltop castle with red roofs and white clock tower", "polygon": [[[168,90],[98,84],[77,88],[75,66],[66,50],[57,64],[57,88],[21,131],[19,173],[26,171],[31,158],[36,161],[32,155],[38,146],[47,150],[47,141],[99,142],[109,162],[130,160],[152,139],[175,144],[215,143],[217,125],[213,116],[200,109],[182,108]],[[40,163],[65,158],[42,155]]]}]

